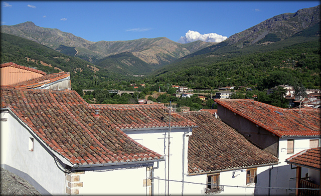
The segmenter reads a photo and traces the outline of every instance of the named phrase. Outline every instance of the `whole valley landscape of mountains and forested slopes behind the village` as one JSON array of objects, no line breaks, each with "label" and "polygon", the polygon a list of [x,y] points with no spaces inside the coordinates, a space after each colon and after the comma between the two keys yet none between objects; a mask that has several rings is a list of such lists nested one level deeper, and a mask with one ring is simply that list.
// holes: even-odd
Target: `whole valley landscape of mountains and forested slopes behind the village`
[{"label": "whole valley landscape of mountains and forested slopes behind the village", "polygon": [[[147,97],[197,110],[213,107],[211,95],[233,86],[234,98],[257,97],[286,107],[273,103],[267,89],[282,84],[320,88],[319,8],[274,16],[220,43],[182,44],[166,37],[92,42],[30,21],[3,25],[1,63],[68,71],[73,89],[93,103],[137,103]],[[176,97],[173,85],[186,86],[194,95]],[[83,94],[83,89],[92,91]],[[201,91],[206,101],[200,101]]]}]

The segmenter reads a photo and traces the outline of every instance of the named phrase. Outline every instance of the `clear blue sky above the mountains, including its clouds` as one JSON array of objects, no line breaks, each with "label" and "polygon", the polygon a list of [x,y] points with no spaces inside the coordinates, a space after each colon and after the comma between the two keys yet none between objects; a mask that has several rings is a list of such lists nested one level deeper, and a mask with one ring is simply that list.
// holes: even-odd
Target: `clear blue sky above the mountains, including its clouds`
[{"label": "clear blue sky above the mountains, including its clouds", "polygon": [[[89,41],[168,37],[218,41],[315,1],[1,1],[1,24],[33,21]],[[188,34],[186,34],[188,33]],[[181,36],[183,36],[181,38]],[[185,36],[189,36],[185,37]]]}]

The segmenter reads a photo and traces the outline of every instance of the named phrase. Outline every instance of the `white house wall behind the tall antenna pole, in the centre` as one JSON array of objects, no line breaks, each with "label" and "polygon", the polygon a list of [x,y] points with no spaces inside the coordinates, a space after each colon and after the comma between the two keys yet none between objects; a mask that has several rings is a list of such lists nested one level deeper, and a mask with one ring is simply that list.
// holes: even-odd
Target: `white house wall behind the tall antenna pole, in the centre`
[{"label": "white house wall behind the tall antenna pole, in the centre", "polygon": [[[124,132],[135,141],[165,156],[166,161],[159,162],[159,168],[154,169],[154,194],[167,194],[168,183],[165,179],[168,179],[168,129],[125,130]],[[171,129],[169,178],[179,182],[170,181],[170,194],[182,194],[185,186],[181,181],[187,174],[187,135],[191,134],[192,128]]]}]

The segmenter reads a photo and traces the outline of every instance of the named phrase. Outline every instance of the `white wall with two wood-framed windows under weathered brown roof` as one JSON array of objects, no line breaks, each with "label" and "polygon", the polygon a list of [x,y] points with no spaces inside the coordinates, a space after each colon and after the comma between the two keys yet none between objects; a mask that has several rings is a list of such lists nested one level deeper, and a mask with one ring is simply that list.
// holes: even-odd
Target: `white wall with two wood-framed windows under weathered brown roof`
[{"label": "white wall with two wood-framed windows under weathered brown roof", "polygon": [[[269,168],[271,167],[272,166],[257,167],[257,183],[249,184],[246,184],[246,168],[221,171],[219,177],[220,185],[224,186],[224,190],[220,193],[216,193],[215,195],[267,195],[267,188],[256,188],[255,186],[268,187]],[[233,172],[235,172],[234,177]],[[186,183],[184,192],[185,194],[205,194],[205,188],[207,187],[207,185],[205,185],[207,183],[207,174],[189,175],[186,177],[186,181],[194,183]]]}]

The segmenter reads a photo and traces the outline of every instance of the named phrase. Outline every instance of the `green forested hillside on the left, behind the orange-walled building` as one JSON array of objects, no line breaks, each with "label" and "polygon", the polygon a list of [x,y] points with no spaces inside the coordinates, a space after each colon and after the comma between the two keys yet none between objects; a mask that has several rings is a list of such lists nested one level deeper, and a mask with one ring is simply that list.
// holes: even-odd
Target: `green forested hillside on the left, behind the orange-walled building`
[{"label": "green forested hillside on the left, behind the orange-walled building", "polygon": [[[28,59],[33,59],[34,61],[28,61]],[[5,62],[15,62],[24,66],[36,67],[47,73],[54,73],[60,70],[69,71],[72,86],[75,89],[94,89],[98,88],[98,85],[104,83],[104,81],[123,79],[121,75],[111,73],[104,68],[99,68],[99,71],[96,68],[97,71],[95,72],[94,64],[78,57],[62,54],[29,39],[1,33],[1,63]],[[45,63],[51,67],[43,65]]]}]

